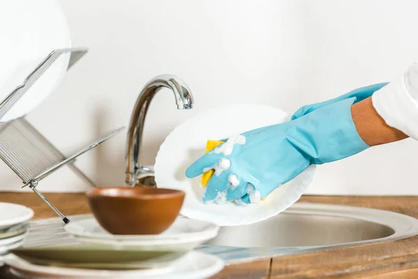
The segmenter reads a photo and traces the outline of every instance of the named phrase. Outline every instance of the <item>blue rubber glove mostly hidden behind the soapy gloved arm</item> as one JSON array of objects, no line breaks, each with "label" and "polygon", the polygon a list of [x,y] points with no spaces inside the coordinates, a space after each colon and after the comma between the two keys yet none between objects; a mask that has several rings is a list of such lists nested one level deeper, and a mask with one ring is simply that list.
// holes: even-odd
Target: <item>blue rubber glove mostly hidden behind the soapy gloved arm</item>
[{"label": "blue rubber glove mostly hidden behind the soapy gloved arm", "polygon": [[361,102],[362,100],[369,98],[373,95],[376,91],[381,89],[383,86],[388,84],[388,82],[378,83],[378,84],[372,84],[369,86],[364,86],[359,89],[355,89],[353,91],[350,91],[342,96],[336,97],[331,100],[326,100],[325,102],[316,103],[313,105],[305,105],[301,107],[299,110],[295,112],[292,116],[292,120],[297,119],[301,116],[304,116],[305,114],[309,114],[309,112],[313,112],[314,110],[318,110],[320,107],[325,107],[325,105],[330,105],[332,103],[339,102],[340,100],[346,100],[348,98],[356,97],[357,100],[355,100],[355,103]]}]

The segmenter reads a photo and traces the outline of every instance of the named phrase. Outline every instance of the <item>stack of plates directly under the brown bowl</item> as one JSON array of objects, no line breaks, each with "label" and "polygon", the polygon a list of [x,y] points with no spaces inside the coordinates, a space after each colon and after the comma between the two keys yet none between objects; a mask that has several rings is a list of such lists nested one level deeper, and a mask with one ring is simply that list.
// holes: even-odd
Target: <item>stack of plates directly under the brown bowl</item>
[{"label": "stack of plates directly under the brown bowl", "polygon": [[208,278],[224,262],[193,249],[218,230],[212,223],[178,217],[162,234],[113,235],[88,218],[65,225],[79,244],[19,248],[5,262],[24,278]]}]

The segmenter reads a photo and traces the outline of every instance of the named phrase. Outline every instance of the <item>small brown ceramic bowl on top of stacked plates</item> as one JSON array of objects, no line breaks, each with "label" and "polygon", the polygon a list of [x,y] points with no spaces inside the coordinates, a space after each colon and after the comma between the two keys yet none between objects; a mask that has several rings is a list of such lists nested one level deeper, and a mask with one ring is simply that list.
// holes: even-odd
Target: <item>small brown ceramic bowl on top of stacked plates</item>
[{"label": "small brown ceramic bowl on top of stacked plates", "polygon": [[185,193],[145,187],[94,188],[88,204],[98,223],[111,234],[160,234],[180,212]]}]

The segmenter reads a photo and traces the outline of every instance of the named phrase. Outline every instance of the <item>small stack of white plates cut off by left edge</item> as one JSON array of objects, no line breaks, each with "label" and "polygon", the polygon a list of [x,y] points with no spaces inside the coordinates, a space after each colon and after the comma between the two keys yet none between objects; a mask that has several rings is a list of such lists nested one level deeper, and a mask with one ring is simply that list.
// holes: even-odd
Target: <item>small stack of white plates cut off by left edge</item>
[{"label": "small stack of white plates cut off by left edge", "polygon": [[32,216],[26,206],[0,202],[0,265],[9,250],[22,246]]}]

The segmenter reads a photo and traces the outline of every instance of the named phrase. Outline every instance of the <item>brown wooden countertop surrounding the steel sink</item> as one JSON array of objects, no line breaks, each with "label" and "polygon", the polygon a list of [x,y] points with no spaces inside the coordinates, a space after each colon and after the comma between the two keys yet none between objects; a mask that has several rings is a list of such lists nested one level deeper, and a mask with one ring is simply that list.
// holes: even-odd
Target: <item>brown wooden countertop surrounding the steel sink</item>
[{"label": "brown wooden countertop surrounding the steel sink", "polygon": [[[90,212],[82,193],[45,196],[68,216]],[[56,216],[34,193],[0,193],[0,202],[29,206],[37,219]],[[299,202],[365,206],[418,218],[418,197],[302,196]],[[418,236],[226,266],[214,278],[418,278]]]}]

